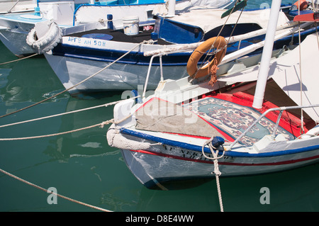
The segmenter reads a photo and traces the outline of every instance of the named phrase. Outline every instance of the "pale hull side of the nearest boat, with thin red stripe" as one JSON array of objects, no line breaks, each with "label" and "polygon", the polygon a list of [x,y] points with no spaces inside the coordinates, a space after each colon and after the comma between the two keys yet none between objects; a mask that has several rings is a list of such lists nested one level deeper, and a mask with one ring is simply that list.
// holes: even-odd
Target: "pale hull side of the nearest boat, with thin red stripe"
[{"label": "pale hull side of the nearest boat, with thin red stripe", "polygon": [[[317,139],[318,141],[318,139]],[[146,141],[147,142],[147,141]],[[306,145],[306,142],[303,142]],[[281,150],[279,154],[225,154],[218,159],[220,176],[247,176],[294,169],[319,161],[318,143],[300,149]],[[290,153],[290,154],[289,154]],[[214,179],[213,160],[201,152],[169,145],[152,150],[122,150],[130,171],[147,188],[165,189],[165,183],[190,179]],[[242,156],[241,156],[242,155]],[[212,157],[206,153],[206,156]]]}]

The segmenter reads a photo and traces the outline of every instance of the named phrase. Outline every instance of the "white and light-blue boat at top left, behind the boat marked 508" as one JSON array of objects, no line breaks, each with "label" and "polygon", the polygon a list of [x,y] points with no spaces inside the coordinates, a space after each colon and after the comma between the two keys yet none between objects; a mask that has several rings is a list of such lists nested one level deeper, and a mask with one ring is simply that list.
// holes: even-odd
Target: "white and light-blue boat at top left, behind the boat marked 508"
[{"label": "white and light-blue boat at top left, behind the boat marked 508", "polygon": [[[189,5],[201,4],[201,1],[177,0],[176,6],[179,9],[183,9],[183,7],[188,7]],[[220,2],[230,4],[232,1],[225,0]],[[115,22],[122,19],[123,15],[139,16],[141,21],[152,20],[152,9],[165,5],[164,0],[129,1],[128,4],[121,0],[37,0],[37,5],[33,12],[0,15],[0,40],[14,55],[23,57],[24,55],[38,52],[37,49],[32,47],[33,45],[38,45],[36,43],[35,30],[33,29],[38,23],[50,23],[50,32],[48,31],[46,34],[45,44],[53,43],[49,47],[51,49],[60,41],[62,35],[66,35],[67,32],[74,32],[74,30],[70,31],[70,29],[66,31],[64,28],[76,28],[78,31],[107,28],[107,21],[110,18],[113,18]],[[62,30],[58,30],[55,26],[62,28]],[[50,38],[54,39],[50,40]],[[27,39],[29,43],[26,42]]]}]

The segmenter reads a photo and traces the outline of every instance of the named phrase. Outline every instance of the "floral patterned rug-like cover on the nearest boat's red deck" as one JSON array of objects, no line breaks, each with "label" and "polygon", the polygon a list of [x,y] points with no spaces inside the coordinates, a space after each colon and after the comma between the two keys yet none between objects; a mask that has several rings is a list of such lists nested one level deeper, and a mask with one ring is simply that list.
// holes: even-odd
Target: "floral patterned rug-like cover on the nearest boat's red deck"
[{"label": "floral patterned rug-like cover on the nearest boat's red deck", "polygon": [[[206,97],[198,101],[193,101],[184,105],[184,108],[196,113],[198,116],[206,120],[213,127],[222,130],[230,137],[236,139],[244,132],[261,113],[247,106],[240,106],[236,103],[225,101],[219,98]],[[247,135],[242,137],[240,143],[242,145],[252,145],[264,135],[271,135],[274,131],[276,123],[267,118],[257,123]],[[276,135],[283,134],[287,139],[293,140],[293,135],[279,127]]]}]

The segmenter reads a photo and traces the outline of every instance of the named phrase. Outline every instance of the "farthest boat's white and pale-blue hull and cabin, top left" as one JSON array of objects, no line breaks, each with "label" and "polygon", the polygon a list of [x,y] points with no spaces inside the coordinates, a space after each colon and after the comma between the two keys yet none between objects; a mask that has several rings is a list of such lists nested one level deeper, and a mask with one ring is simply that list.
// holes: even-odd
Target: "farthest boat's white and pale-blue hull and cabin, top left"
[{"label": "farthest boat's white and pale-blue hull and cabin, top left", "polygon": [[[233,1],[222,1],[219,4],[216,1],[206,2],[198,1],[177,1],[177,9],[183,10],[189,6],[203,4],[211,6],[226,7],[233,4]],[[44,21],[55,21],[60,28],[76,28],[88,23],[97,23],[98,21],[107,21],[107,15],[113,15],[114,26],[120,24],[123,27],[123,16],[139,16],[140,21],[147,21],[147,11],[152,12],[155,7],[165,6],[165,4],[135,4],[123,6],[106,5],[82,5],[74,11],[74,1],[48,1],[39,3],[40,16],[35,13],[5,14],[0,16],[0,40],[14,55],[30,55],[35,53],[27,43],[26,38],[35,23]],[[152,16],[151,16],[152,18]],[[107,22],[105,22],[106,24]],[[104,24],[102,22],[101,24]],[[101,27],[101,24],[95,28]],[[95,29],[90,28],[90,29]],[[67,31],[66,31],[67,32]]]}]

